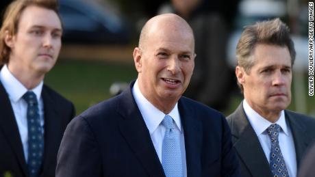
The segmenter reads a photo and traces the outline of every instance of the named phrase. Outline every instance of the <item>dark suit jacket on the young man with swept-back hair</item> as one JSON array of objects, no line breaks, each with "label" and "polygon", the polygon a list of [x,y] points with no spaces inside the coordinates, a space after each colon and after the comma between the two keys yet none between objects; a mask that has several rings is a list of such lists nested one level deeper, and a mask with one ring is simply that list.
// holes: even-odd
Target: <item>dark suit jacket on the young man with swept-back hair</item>
[{"label": "dark suit jacket on the young man with swept-back hair", "polygon": [[[54,177],[58,148],[66,125],[75,115],[73,104],[49,87],[42,87],[45,152],[40,176]],[[0,82],[0,176],[27,177],[21,136],[5,88]]]}]

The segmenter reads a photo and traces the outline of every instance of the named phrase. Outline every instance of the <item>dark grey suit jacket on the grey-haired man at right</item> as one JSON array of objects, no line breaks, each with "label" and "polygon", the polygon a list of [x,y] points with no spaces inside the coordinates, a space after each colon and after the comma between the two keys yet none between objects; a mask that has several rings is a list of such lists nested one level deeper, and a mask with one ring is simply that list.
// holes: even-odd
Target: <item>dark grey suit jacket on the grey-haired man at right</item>
[{"label": "dark grey suit jacket on the grey-haired man at right", "polygon": [[[297,169],[299,170],[304,152],[315,137],[315,120],[287,110],[285,110],[285,116],[292,131],[297,155]],[[268,160],[253,127],[249,123],[242,103],[234,113],[227,117],[227,123],[231,128],[232,141],[240,159],[241,176],[271,177]]]}]

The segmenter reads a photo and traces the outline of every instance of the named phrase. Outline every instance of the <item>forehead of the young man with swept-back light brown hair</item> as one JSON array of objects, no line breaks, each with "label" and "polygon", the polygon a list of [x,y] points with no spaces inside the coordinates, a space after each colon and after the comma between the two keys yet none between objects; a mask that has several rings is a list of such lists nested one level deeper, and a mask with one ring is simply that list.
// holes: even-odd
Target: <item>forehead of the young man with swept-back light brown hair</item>
[{"label": "forehead of the young man with swept-back light brown hair", "polygon": [[34,26],[62,29],[60,18],[53,10],[30,5],[21,13],[18,28],[28,29]]}]

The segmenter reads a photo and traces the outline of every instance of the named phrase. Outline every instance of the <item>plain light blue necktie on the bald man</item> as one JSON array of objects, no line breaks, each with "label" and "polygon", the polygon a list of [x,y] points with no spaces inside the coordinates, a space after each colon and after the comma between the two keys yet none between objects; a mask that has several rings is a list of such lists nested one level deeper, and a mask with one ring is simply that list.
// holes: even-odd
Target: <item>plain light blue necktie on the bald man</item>
[{"label": "plain light blue necktie on the bald man", "polygon": [[166,132],[162,144],[162,166],[166,177],[182,177],[183,161],[181,160],[181,146],[179,134],[175,131],[173,118],[165,115],[162,125]]}]

